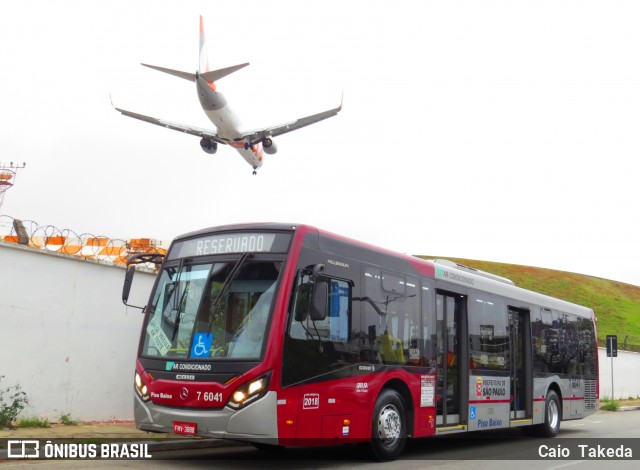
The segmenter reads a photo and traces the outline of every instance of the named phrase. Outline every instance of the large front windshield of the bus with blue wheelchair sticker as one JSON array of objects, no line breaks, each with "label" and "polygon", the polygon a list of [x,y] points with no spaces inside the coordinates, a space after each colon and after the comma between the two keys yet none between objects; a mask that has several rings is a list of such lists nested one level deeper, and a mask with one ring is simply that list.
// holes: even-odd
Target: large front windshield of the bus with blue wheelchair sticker
[{"label": "large front windshield of the bus with blue wheelchair sticker", "polygon": [[142,355],[174,359],[259,359],[279,262],[166,267],[153,294]]}]

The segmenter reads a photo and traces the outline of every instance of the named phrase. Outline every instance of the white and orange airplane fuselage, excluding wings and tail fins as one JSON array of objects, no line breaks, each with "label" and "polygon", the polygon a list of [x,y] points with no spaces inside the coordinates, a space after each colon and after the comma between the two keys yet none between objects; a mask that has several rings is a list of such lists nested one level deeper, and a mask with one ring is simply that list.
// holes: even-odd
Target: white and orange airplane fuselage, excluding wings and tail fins
[{"label": "white and orange airplane fuselage, excluding wings and tail fins", "polygon": [[209,120],[216,126],[218,137],[224,140],[227,145],[235,148],[254,170],[260,168],[264,152],[262,143],[258,142],[249,148],[245,148],[247,146],[242,139],[240,120],[227,104],[224,95],[215,90],[215,85],[212,86],[212,84],[199,76],[196,76],[196,88],[200,105]]}]

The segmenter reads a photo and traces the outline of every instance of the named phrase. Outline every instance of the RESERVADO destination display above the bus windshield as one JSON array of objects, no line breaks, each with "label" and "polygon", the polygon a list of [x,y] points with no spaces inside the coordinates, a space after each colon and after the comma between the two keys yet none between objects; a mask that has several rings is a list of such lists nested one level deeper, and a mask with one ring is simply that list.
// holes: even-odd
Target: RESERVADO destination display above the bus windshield
[{"label": "RESERVADO destination display above the bus windshield", "polygon": [[215,233],[177,242],[169,259],[230,253],[286,253],[291,235],[285,233]]}]

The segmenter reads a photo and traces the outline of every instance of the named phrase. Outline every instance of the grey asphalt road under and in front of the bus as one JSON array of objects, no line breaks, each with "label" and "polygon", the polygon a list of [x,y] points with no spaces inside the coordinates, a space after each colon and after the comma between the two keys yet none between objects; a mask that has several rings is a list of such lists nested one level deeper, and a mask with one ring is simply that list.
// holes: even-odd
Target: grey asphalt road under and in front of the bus
[{"label": "grey asphalt road under and in front of the bus", "polygon": [[[571,467],[576,470],[603,468],[638,468],[640,459],[640,411],[599,412],[580,421],[562,423],[559,438],[524,439],[517,430],[492,431],[465,435],[456,439],[420,439],[410,441],[404,454],[392,463],[376,463],[362,456],[356,446],[329,448],[290,448],[277,453],[265,453],[250,446],[224,447],[189,451],[154,452],[155,458],[163,460],[125,461],[31,461],[5,462],[2,467],[31,465],[38,470],[45,469],[84,469],[84,468],[131,468],[131,469],[260,469],[282,470],[289,468],[314,469],[369,469],[393,468],[409,470],[422,468],[447,469],[546,469],[559,470]],[[603,439],[606,437],[607,439]],[[597,441],[595,439],[598,439]],[[628,439],[628,440],[625,440]],[[582,458],[578,444],[588,445],[589,449],[597,444],[604,447],[632,449],[635,460],[623,461],[616,458],[600,460]],[[552,453],[568,449],[571,458],[531,459],[523,457],[538,456],[541,446],[543,453]],[[633,446],[633,448],[631,447]],[[562,450],[564,451],[564,450]],[[585,452],[588,452],[585,449]],[[565,451],[566,452],[566,451]],[[572,459],[573,458],[573,459]]]}]

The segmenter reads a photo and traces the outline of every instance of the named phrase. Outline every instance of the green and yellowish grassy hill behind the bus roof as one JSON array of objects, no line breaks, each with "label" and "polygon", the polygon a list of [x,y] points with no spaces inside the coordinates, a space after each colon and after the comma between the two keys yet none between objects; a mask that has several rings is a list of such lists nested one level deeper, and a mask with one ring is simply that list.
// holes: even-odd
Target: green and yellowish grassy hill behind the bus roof
[{"label": "green and yellowish grassy hill behind the bus roof", "polygon": [[590,307],[598,319],[598,343],[601,346],[604,346],[607,335],[618,335],[619,349],[640,351],[638,286],[552,269],[462,258],[445,259],[506,277],[524,289]]}]

